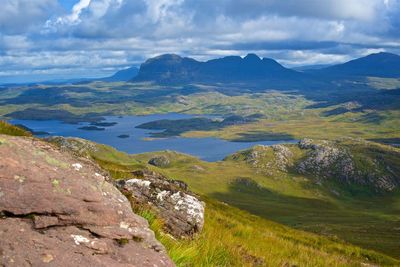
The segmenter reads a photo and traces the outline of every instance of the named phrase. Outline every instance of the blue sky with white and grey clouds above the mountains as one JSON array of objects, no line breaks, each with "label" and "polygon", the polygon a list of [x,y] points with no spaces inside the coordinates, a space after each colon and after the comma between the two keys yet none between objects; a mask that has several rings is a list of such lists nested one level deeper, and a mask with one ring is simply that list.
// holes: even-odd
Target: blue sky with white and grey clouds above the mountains
[{"label": "blue sky with white and grey clouds above the mountains", "polygon": [[148,57],[285,66],[400,54],[400,0],[0,0],[0,83],[99,77]]}]

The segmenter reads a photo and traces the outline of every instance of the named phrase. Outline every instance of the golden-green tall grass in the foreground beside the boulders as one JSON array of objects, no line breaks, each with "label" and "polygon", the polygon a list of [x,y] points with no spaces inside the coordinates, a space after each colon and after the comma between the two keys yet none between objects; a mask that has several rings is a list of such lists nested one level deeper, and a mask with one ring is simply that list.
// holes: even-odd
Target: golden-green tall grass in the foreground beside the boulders
[{"label": "golden-green tall grass in the foreground beside the boulders", "polygon": [[261,219],[210,198],[203,231],[193,240],[175,240],[162,221],[146,218],[177,266],[361,266],[400,264],[383,254]]}]

